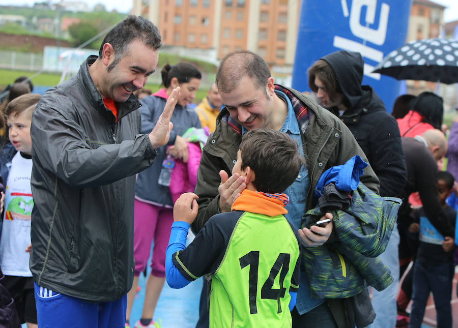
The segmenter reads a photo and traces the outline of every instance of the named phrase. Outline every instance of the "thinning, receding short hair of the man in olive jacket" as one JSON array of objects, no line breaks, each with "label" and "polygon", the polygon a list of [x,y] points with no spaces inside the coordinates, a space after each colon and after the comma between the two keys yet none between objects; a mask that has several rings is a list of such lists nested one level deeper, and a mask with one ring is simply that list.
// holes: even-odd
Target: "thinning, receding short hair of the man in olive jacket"
[{"label": "thinning, receding short hair of the man in olive jacket", "polygon": [[252,51],[237,50],[226,54],[216,71],[215,82],[218,91],[232,92],[245,76],[253,79],[256,86],[260,89],[264,88],[265,91],[267,80],[271,75],[264,59]]}]

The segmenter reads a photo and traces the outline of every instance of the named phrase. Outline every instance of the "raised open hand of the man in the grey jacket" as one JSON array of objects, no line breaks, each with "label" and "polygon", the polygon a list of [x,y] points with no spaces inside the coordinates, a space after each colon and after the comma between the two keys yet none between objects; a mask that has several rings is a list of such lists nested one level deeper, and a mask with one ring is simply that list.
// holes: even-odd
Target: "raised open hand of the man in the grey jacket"
[{"label": "raised open hand of the man in the grey jacket", "polygon": [[178,101],[178,96],[180,95],[180,87],[177,86],[172,90],[168,96],[167,102],[165,103],[164,110],[159,116],[156,125],[153,128],[153,131],[150,132],[149,137],[153,148],[158,148],[167,144],[168,139],[170,138],[170,131],[174,128],[174,124],[170,122],[171,115],[174,112],[175,105]]}]

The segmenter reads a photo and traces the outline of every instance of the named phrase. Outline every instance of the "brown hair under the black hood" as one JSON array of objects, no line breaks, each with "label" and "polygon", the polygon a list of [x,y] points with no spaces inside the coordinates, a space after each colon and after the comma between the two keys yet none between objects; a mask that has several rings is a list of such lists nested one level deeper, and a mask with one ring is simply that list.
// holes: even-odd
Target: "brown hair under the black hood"
[{"label": "brown hair under the black hood", "polygon": [[318,77],[320,81],[323,82],[323,85],[325,86],[326,92],[328,93],[329,99],[331,99],[331,101],[336,99],[337,93],[342,93],[342,90],[337,83],[337,78],[335,77],[334,70],[323,59],[318,59],[318,61],[307,70],[307,74],[308,86],[314,93],[318,92],[318,87],[315,84],[315,77]]}]

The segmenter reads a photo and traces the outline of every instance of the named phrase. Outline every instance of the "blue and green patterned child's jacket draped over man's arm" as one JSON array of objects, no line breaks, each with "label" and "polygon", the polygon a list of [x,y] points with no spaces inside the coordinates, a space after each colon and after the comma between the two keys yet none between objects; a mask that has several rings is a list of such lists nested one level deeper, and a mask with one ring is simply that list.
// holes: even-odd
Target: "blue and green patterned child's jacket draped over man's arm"
[{"label": "blue and green patterned child's jacket draped over man's arm", "polygon": [[[303,248],[314,296],[345,298],[359,294],[367,285],[380,291],[393,282],[390,271],[376,256],[388,244],[399,205],[400,199],[380,197],[359,184],[349,208],[332,213],[336,238],[320,247]],[[305,214],[302,226],[309,227],[321,216],[320,210],[313,208]]]}]

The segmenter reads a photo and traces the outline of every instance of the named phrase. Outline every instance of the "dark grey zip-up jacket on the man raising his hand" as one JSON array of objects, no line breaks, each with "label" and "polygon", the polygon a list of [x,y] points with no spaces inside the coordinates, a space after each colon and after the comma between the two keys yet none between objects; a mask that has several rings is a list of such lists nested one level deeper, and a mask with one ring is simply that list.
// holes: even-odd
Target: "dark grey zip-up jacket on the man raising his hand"
[{"label": "dark grey zip-up jacket on the man raising his hand", "polygon": [[43,287],[92,302],[119,299],[132,285],[135,174],[156,156],[139,134],[140,106],[116,103],[118,121],[89,74],[47,91],[32,116],[32,253]]}]

